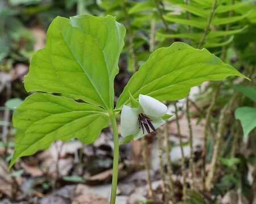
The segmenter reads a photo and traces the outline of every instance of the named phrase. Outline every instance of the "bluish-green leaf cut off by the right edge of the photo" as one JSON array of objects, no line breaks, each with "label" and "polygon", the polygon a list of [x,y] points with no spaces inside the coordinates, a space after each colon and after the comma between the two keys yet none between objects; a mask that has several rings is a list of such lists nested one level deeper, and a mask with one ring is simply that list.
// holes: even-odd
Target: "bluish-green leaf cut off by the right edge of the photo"
[{"label": "bluish-green leaf cut off by the right edge of the photo", "polygon": [[235,112],[237,120],[240,120],[243,128],[243,139],[247,141],[248,134],[256,127],[256,108],[241,107]]}]

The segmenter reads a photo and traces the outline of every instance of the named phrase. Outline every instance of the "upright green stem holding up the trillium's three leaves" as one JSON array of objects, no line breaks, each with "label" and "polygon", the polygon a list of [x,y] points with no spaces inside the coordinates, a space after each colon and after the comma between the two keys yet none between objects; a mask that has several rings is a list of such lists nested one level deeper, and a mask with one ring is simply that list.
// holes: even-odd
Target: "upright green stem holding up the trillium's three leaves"
[{"label": "upright green stem holding up the trillium's three leaves", "polygon": [[117,196],[117,179],[118,179],[118,159],[119,159],[119,145],[118,145],[118,131],[117,131],[117,120],[113,112],[109,113],[110,123],[113,130],[114,139],[114,159],[113,159],[113,175],[112,175],[112,189],[110,204],[115,204],[115,197]]}]

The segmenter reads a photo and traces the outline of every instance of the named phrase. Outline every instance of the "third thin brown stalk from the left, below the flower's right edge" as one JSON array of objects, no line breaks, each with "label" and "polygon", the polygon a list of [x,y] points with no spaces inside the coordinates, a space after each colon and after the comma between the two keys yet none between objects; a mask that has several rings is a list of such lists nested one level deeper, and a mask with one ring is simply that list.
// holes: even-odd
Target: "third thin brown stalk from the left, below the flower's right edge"
[{"label": "third thin brown stalk from the left, below the flower's right edge", "polygon": [[172,180],[172,163],[171,163],[171,148],[168,138],[168,124],[164,124],[164,140],[166,142],[166,159],[167,159],[167,173],[168,173],[168,187],[170,189],[170,197],[172,203],[175,203],[175,193],[174,193],[174,181]]}]

